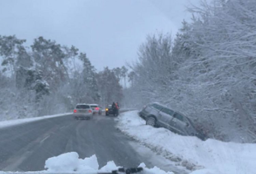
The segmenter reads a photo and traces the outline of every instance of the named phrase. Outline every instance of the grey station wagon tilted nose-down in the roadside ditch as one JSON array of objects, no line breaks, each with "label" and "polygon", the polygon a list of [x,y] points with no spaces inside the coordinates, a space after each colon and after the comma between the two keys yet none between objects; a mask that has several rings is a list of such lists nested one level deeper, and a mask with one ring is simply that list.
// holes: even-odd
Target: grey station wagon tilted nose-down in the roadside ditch
[{"label": "grey station wagon tilted nose-down in the roadside ditch", "polygon": [[147,125],[165,127],[180,135],[197,136],[203,140],[206,138],[196,130],[188,117],[157,102],[147,104],[138,114],[146,120]]}]

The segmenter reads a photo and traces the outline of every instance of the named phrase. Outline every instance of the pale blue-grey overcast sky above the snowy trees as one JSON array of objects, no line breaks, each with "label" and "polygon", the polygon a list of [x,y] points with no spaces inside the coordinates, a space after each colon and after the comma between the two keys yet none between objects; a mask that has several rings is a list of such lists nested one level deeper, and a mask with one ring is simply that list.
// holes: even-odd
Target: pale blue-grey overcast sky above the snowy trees
[{"label": "pale blue-grey overcast sky above the snowy trees", "polygon": [[0,0],[0,35],[43,36],[86,52],[98,69],[137,58],[147,34],[172,33],[200,0]]}]

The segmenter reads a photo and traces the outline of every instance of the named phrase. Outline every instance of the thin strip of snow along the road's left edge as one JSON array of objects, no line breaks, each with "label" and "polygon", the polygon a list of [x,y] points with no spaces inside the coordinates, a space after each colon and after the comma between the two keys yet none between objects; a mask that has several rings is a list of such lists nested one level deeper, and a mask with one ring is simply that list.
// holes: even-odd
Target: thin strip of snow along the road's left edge
[{"label": "thin strip of snow along the road's left edge", "polygon": [[7,120],[7,121],[0,121],[0,128],[13,126],[17,124],[32,122],[32,121],[38,121],[42,119],[52,118],[52,117],[60,117],[60,116],[66,116],[70,115],[72,113],[65,113],[65,114],[56,114],[56,115],[50,115],[50,116],[42,116],[42,117],[32,117],[32,118],[23,118],[23,119],[15,119],[15,120]]}]

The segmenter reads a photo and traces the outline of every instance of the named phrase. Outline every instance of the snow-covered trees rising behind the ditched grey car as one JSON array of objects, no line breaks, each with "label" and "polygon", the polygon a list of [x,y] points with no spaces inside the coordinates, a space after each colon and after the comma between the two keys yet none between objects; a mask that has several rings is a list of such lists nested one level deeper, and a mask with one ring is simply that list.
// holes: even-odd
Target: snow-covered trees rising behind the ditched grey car
[{"label": "snow-covered trees rising behind the ditched grey car", "polygon": [[209,137],[256,142],[256,1],[202,1],[171,38],[147,37],[131,64],[126,99],[158,101],[192,118]]}]

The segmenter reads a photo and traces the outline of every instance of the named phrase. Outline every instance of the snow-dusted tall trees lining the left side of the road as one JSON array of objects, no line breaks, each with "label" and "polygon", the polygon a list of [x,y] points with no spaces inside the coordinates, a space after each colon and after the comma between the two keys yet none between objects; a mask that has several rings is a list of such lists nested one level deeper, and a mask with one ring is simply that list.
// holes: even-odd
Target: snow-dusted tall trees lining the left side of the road
[{"label": "snow-dusted tall trees lining the left side of the road", "polygon": [[125,67],[96,72],[86,54],[74,46],[43,37],[30,47],[25,42],[0,36],[0,120],[64,113],[77,103],[104,107],[122,100],[119,81],[127,73]]}]

